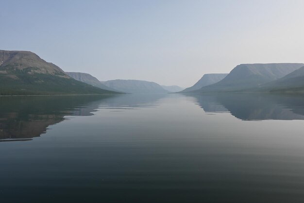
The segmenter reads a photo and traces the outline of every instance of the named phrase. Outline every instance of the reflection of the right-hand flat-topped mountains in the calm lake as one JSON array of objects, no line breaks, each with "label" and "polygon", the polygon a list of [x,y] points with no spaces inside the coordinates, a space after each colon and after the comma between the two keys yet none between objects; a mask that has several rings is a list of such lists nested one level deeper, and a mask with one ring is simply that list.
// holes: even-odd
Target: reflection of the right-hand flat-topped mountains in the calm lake
[{"label": "reflection of the right-hand flat-topped mountains in the calm lake", "polygon": [[[304,119],[304,97],[273,94],[197,94],[205,112],[229,111],[243,120]],[[226,109],[226,110],[225,110]]]}]

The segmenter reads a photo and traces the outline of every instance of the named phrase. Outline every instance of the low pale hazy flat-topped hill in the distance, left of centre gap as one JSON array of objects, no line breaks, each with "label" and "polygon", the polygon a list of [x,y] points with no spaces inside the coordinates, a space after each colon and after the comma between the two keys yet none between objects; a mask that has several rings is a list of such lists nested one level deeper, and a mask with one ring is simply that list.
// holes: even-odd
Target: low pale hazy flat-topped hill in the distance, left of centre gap
[{"label": "low pale hazy flat-topped hill in the distance, left of centre gap", "polygon": [[140,80],[110,80],[102,82],[108,87],[117,89],[118,91],[126,93],[168,93],[168,90],[165,90],[162,86],[157,83],[140,81]]}]

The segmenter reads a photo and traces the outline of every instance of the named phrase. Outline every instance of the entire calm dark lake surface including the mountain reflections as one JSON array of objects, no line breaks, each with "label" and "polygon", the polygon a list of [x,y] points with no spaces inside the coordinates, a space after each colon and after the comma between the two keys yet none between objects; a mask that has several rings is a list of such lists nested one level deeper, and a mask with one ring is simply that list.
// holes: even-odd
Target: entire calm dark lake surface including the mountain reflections
[{"label": "entire calm dark lake surface including the mountain reflections", "polygon": [[0,203],[303,203],[304,97],[0,97]]}]

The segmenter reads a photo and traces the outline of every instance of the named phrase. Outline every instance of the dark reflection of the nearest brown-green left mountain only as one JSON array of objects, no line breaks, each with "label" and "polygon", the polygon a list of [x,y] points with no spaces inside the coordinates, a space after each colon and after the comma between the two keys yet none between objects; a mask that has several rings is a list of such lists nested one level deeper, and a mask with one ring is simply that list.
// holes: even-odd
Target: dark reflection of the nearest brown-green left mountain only
[{"label": "dark reflection of the nearest brown-green left mountain only", "polygon": [[111,96],[0,97],[0,139],[37,137],[66,115],[91,116],[98,108],[95,102],[108,97]]}]

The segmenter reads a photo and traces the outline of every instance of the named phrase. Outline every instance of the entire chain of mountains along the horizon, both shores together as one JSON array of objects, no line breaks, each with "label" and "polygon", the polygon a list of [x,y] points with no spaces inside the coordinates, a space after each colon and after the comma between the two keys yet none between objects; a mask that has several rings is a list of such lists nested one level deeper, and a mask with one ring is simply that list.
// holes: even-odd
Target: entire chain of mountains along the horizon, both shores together
[{"label": "entire chain of mountains along the horizon, both shores together", "polygon": [[193,86],[140,80],[101,82],[87,73],[64,72],[31,51],[0,50],[0,95],[206,92],[304,93],[304,64],[241,64],[229,74],[205,74]]}]

